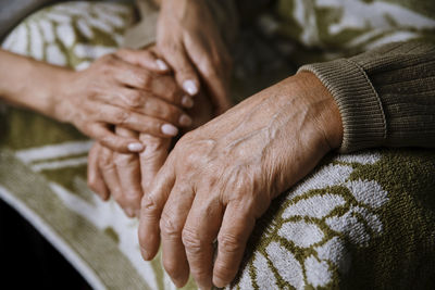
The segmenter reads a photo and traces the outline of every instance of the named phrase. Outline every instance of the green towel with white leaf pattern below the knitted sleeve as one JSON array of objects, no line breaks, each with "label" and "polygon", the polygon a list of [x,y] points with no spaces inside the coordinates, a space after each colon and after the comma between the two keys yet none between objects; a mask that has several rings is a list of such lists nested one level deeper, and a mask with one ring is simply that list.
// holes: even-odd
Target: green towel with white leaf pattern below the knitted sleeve
[{"label": "green towel with white leaf pattern below the knitted sleeve", "polygon": [[228,289],[430,289],[435,152],[330,156],[274,201]]}]

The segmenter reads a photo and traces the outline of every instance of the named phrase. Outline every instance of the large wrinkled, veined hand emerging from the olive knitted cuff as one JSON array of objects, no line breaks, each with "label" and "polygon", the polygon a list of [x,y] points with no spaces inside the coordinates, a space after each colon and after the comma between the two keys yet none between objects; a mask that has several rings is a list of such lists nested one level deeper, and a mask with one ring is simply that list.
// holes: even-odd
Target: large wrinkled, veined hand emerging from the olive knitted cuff
[{"label": "large wrinkled, veined hand emerging from the olive knitted cuff", "polygon": [[144,196],[144,259],[151,260],[161,241],[164,268],[177,287],[189,272],[201,289],[226,286],[256,219],[339,146],[341,130],[326,88],[299,73],[188,133]]}]

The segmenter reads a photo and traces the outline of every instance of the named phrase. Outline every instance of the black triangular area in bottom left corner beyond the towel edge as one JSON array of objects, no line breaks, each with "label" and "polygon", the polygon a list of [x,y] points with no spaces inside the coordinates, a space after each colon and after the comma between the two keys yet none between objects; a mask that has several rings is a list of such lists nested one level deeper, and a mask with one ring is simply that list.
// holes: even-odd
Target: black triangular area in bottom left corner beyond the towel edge
[{"label": "black triangular area in bottom left corner beyond the towel edge", "polygon": [[8,288],[91,289],[29,223],[0,200],[0,289]]}]

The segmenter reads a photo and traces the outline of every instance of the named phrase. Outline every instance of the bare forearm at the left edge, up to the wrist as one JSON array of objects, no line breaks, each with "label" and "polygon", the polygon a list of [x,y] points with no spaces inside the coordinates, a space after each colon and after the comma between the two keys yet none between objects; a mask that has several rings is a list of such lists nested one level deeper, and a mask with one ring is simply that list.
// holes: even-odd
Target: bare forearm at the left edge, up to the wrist
[{"label": "bare forearm at the left edge, up to the wrist", "polygon": [[10,104],[55,117],[57,86],[69,74],[67,68],[0,50],[0,98]]}]

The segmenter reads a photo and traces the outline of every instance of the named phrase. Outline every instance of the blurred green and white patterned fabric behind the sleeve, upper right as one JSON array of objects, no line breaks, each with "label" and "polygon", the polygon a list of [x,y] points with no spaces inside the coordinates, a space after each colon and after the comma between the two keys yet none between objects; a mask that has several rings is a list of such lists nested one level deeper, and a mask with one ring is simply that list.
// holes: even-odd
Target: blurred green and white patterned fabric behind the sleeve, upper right
[{"label": "blurred green and white patterned fabric behind the sleeve, upper right", "polygon": [[293,39],[296,48],[288,53],[301,65],[355,55],[394,41],[435,41],[435,2],[277,0],[260,24],[270,35]]}]

